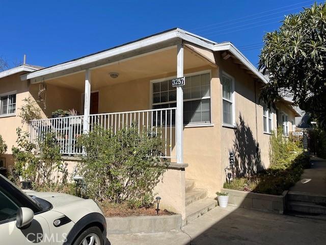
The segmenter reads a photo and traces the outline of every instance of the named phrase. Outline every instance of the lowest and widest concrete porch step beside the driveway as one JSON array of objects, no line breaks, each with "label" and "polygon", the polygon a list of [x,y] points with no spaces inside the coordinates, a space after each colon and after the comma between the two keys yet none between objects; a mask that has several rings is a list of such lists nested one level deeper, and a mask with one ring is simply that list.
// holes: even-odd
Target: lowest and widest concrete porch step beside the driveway
[{"label": "lowest and widest concrete porch step beside the driveway", "polygon": [[210,198],[196,201],[185,208],[186,224],[218,206],[218,201]]}]

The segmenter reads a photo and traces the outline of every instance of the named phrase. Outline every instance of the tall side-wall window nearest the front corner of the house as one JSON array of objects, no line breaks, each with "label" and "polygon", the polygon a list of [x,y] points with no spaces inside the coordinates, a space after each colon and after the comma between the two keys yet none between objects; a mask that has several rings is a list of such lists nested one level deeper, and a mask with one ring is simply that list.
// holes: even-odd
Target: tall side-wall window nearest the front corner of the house
[{"label": "tall side-wall window nearest the front corner of the house", "polygon": [[223,124],[234,125],[234,81],[231,77],[222,75]]}]

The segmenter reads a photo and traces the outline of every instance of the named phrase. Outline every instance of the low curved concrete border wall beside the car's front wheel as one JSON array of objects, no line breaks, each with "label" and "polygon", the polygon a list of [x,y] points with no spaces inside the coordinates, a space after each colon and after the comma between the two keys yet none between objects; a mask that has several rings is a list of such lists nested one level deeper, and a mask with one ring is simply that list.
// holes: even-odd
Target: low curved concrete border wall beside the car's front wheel
[{"label": "low curved concrete border wall beside the car's front wheel", "polygon": [[138,234],[180,230],[181,214],[106,218],[107,234]]}]

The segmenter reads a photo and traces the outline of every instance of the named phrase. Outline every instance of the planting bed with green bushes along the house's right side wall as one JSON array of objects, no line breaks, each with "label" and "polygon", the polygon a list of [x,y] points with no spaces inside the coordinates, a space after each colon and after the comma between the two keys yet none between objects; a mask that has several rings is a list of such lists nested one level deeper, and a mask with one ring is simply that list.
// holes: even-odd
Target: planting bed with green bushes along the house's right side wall
[{"label": "planting bed with green bushes along the house's right side wall", "polygon": [[284,139],[282,132],[271,135],[270,166],[252,176],[234,178],[224,188],[264,194],[282,195],[309,167],[309,155],[300,142]]}]

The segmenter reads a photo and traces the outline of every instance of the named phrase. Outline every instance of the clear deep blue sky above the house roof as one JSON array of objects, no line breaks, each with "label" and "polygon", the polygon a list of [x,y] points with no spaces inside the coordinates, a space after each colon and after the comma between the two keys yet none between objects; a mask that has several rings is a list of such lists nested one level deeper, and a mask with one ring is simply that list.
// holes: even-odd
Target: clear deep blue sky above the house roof
[{"label": "clear deep blue sky above the house roof", "polygon": [[0,4],[0,57],[51,66],[171,28],[231,41],[257,66],[263,37],[314,1],[14,1]]}]

